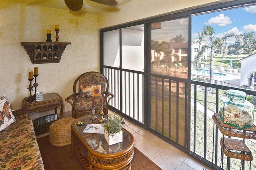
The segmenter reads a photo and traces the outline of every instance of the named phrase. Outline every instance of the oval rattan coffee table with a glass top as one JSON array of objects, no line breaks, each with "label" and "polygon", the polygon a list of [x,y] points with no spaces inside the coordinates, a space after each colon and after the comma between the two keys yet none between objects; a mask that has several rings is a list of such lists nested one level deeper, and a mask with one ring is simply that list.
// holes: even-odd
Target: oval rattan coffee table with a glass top
[{"label": "oval rattan coffee table with a glass top", "polygon": [[[100,115],[96,115],[100,117]],[[72,123],[72,153],[77,154],[84,169],[131,169],[131,161],[134,155],[134,137],[130,132],[123,130],[123,142],[108,145],[104,134],[83,133],[87,124],[100,124],[98,120],[91,121],[91,115],[76,119]],[[107,117],[104,116],[106,119]],[[83,120],[85,125],[78,126],[76,123]]]}]

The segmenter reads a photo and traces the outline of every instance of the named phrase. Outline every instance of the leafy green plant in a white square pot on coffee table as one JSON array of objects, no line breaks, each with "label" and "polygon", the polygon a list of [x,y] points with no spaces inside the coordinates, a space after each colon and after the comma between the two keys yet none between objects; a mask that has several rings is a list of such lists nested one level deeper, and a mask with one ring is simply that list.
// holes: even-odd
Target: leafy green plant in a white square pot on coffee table
[{"label": "leafy green plant in a white square pot on coffee table", "polygon": [[124,122],[124,118],[120,119],[120,116],[114,113],[113,116],[108,114],[108,121],[102,123],[101,126],[104,127],[105,139],[109,145],[123,141],[122,122]]}]

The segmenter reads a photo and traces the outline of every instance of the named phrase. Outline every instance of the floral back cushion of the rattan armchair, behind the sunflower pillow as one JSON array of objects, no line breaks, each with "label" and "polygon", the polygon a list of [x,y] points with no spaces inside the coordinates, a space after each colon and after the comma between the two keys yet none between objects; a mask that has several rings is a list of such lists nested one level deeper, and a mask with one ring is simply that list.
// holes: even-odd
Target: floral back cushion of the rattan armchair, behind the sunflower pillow
[{"label": "floral back cushion of the rattan armchair, behind the sunflower pillow", "polygon": [[78,83],[79,93],[81,91],[80,86],[90,86],[90,85],[101,85],[101,93],[105,93],[106,91],[106,79],[100,73],[86,73],[80,77]]}]

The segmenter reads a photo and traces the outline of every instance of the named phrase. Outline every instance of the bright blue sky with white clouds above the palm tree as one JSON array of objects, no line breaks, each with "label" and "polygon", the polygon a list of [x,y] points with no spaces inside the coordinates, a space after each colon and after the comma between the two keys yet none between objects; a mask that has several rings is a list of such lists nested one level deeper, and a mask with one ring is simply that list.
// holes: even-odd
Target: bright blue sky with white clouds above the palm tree
[{"label": "bright blue sky with white clouds above the palm tree", "polygon": [[[202,32],[206,25],[216,28],[215,36],[219,38],[228,33],[256,32],[256,6],[193,16],[192,38],[196,38],[196,33]],[[228,43],[234,43],[234,39]]]}]

